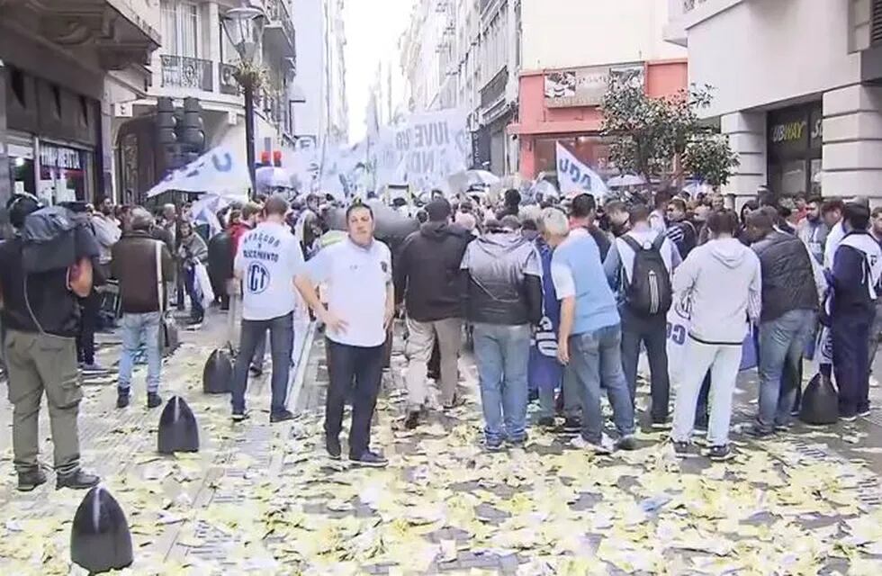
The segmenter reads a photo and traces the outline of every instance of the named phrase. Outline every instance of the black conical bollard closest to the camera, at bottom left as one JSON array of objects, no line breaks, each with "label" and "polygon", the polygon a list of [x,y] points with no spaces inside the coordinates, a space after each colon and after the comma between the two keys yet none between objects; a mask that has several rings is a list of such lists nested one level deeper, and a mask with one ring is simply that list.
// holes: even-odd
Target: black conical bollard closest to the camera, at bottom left
[{"label": "black conical bollard closest to the camera, at bottom left", "polygon": [[131,534],[126,515],[103,486],[86,492],[70,528],[70,560],[90,573],[130,566]]}]

